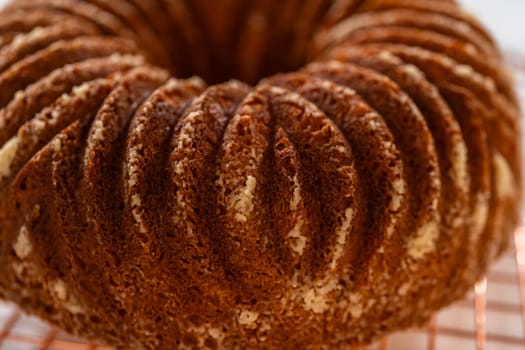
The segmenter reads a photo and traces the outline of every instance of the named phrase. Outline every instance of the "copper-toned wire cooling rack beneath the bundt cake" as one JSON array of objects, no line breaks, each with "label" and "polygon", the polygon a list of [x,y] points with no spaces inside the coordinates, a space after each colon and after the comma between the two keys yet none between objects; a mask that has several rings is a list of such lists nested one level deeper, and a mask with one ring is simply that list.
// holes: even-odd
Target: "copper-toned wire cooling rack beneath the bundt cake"
[{"label": "copper-toned wire cooling rack beneath the bundt cake", "polygon": [[[525,106],[525,58],[509,54]],[[523,216],[525,218],[525,216]],[[525,221],[512,249],[467,297],[437,313],[428,326],[394,334],[352,350],[518,350],[525,349]],[[89,345],[16,306],[0,302],[0,350],[110,350]]]}]

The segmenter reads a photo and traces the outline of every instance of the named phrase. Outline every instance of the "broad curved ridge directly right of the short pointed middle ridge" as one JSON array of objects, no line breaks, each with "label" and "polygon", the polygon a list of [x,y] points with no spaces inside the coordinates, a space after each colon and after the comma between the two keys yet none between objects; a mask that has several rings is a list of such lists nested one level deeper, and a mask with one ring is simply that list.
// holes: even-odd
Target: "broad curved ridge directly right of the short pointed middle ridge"
[{"label": "broad curved ridge directly right of the short pointed middle ridge", "polygon": [[[316,105],[281,88],[267,89],[272,116],[297,145],[303,164],[308,159],[312,168],[305,166],[305,176],[317,187],[314,196],[319,202],[320,227],[313,231],[311,242],[312,274],[320,275],[326,269],[344,271],[352,260],[346,247],[353,227],[361,227],[362,215],[353,153],[340,130]],[[330,203],[327,198],[337,200]]]}]

